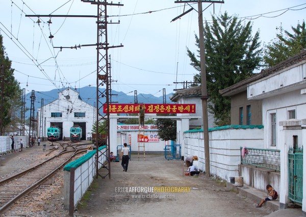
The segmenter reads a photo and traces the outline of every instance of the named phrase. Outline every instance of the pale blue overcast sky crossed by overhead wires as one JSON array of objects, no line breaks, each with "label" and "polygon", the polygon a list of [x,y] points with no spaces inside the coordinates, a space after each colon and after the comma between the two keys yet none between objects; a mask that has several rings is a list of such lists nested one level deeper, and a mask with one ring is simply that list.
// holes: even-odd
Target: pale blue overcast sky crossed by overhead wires
[{"label": "pale blue overcast sky crossed by overhead wires", "polygon": [[[109,1],[111,2],[111,1]],[[118,1],[113,1],[118,3]],[[133,95],[154,94],[157,97],[183,88],[198,73],[187,56],[187,47],[196,52],[198,35],[196,10],[173,22],[171,20],[191,6],[174,0],[121,0],[123,6],[108,6],[108,42],[123,47],[109,50],[112,89]],[[96,18],[25,17],[27,15],[96,15],[97,6],[81,0],[2,0],[0,34],[14,76],[26,93],[52,89],[96,86],[95,46],[60,49],[96,43]],[[209,7],[208,7],[209,6]],[[208,7],[208,8],[207,8]],[[262,46],[275,38],[277,27],[296,27],[305,19],[306,1],[302,0],[224,0],[224,4],[203,3],[203,19],[213,14],[236,15],[252,22],[254,35],[260,31]],[[116,24],[115,22],[119,22]],[[49,39],[52,34],[54,38]],[[181,84],[174,84],[181,82]],[[120,103],[120,102],[119,102]]]}]

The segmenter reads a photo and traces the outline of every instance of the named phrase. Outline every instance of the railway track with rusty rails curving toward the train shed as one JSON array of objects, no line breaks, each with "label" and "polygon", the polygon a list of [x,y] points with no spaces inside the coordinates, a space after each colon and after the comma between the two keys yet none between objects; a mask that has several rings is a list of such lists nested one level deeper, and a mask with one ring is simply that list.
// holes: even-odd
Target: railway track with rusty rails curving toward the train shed
[{"label": "railway track with rusty rails curving toward the train shed", "polygon": [[[56,172],[58,172],[66,163],[68,163],[72,157],[87,150],[86,144],[84,143],[72,144],[70,142],[57,142],[56,146],[58,146],[59,148],[54,148],[53,150],[49,150],[48,152],[46,152],[46,155],[49,155],[54,151],[59,152],[55,156],[50,157],[41,163],[38,163],[37,165],[29,168],[28,170],[25,170],[12,177],[0,181],[1,216],[29,216],[23,215],[22,211],[20,212],[20,210],[22,210],[22,207],[24,208],[25,204],[31,203],[31,200],[33,200],[35,196],[40,195],[41,190],[44,190],[48,188],[48,186],[53,185],[53,181],[48,181],[50,180],[50,177],[56,174]],[[36,193],[33,193],[34,189],[36,189]],[[9,208],[12,205],[16,204],[21,198],[22,203],[19,202],[21,209],[16,208],[16,210],[19,210],[17,211],[19,214],[7,213],[3,215],[8,211],[12,212],[13,210],[9,210]]]}]

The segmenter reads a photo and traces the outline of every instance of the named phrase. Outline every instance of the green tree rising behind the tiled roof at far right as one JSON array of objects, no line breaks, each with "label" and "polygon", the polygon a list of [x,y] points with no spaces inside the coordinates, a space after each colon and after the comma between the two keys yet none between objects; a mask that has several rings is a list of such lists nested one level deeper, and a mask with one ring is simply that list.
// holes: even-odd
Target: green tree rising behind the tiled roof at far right
[{"label": "green tree rising behind the tiled roof at far right", "polygon": [[293,33],[283,30],[282,26],[276,29],[279,29],[279,34],[276,34],[276,38],[269,42],[265,48],[264,61],[268,67],[287,60],[289,57],[306,49],[304,20],[302,24],[297,23],[296,27],[291,26]]}]

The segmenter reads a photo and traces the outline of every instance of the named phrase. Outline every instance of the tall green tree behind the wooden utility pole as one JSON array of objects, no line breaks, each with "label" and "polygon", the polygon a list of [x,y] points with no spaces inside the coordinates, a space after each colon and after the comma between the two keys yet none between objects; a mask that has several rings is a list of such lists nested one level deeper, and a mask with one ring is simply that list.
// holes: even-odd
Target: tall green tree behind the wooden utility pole
[{"label": "tall green tree behind the wooden utility pole", "polygon": [[[221,97],[219,90],[252,76],[260,67],[262,50],[259,32],[252,36],[251,22],[243,23],[227,12],[212,20],[212,24],[206,20],[204,27],[209,111],[215,115],[215,125],[223,126],[230,124],[231,101]],[[197,35],[195,39],[199,47]],[[187,53],[191,65],[200,71],[199,50],[197,55],[189,49]],[[201,82],[200,74],[194,76],[194,82]]]}]

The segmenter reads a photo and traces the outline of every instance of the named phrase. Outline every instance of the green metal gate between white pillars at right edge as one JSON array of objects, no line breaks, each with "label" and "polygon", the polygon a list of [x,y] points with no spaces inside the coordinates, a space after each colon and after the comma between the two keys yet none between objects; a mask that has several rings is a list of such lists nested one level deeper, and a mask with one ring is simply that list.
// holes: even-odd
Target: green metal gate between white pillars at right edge
[{"label": "green metal gate between white pillars at right edge", "polygon": [[289,199],[302,204],[303,199],[303,149],[290,148],[288,152]]}]

